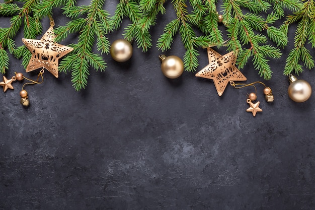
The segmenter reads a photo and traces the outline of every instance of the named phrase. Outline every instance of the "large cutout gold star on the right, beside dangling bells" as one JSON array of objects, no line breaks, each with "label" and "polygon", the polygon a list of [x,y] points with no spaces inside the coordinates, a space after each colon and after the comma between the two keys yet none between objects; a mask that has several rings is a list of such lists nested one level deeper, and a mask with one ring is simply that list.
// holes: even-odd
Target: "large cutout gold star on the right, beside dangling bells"
[{"label": "large cutout gold star on the right, beside dangling bells", "polygon": [[237,56],[233,51],[220,55],[211,47],[207,48],[209,64],[195,76],[211,79],[216,91],[222,96],[229,81],[245,81],[247,78],[235,67]]}]

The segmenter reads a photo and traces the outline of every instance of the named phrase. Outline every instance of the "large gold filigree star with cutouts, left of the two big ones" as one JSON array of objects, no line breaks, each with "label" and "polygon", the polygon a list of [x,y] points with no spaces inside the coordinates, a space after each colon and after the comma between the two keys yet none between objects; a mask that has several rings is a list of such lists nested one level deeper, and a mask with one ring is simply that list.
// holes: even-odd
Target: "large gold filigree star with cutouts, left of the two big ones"
[{"label": "large gold filigree star with cutouts, left of the two big ones", "polygon": [[58,61],[61,57],[73,50],[53,41],[55,33],[50,26],[43,37],[38,39],[22,39],[25,46],[31,51],[32,57],[26,67],[26,72],[34,71],[38,68],[46,68],[53,76],[58,78]]}]

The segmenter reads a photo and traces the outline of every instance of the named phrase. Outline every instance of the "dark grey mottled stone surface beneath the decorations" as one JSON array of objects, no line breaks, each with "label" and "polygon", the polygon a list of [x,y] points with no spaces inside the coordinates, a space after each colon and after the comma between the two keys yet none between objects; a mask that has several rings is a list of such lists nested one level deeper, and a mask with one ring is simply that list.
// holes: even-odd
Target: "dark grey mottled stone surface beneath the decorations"
[{"label": "dark grey mottled stone surface beneath the decorations", "polygon": [[[106,3],[111,14],[115,4]],[[166,7],[151,30],[154,46],[174,18],[171,2]],[[57,26],[68,20],[60,10],[54,19]],[[49,20],[43,23],[45,31]],[[8,27],[9,19],[0,24]],[[314,209],[315,97],[291,101],[282,74],[294,30],[281,59],[269,62],[272,80],[263,81],[252,64],[242,70],[247,82],[263,81],[275,96],[267,103],[257,86],[263,112],[256,117],[246,112],[252,88],[228,86],[218,97],[211,80],[193,73],[169,80],[161,51],[142,53],[135,43],[126,63],[104,55],[106,72],[91,69],[81,92],[70,74],[46,72],[42,85],[26,88],[32,104],[25,109],[22,83],[14,83],[14,91],[0,93],[0,209]],[[207,64],[206,49],[199,52],[197,71]],[[183,57],[179,36],[165,54]],[[21,62],[11,56],[8,78],[25,72]],[[312,71],[298,78],[315,87]]]}]

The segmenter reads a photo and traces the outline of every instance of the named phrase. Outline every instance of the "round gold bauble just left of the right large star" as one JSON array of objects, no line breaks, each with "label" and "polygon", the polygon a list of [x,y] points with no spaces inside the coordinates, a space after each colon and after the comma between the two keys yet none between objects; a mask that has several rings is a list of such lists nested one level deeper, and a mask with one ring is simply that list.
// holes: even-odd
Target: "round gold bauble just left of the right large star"
[{"label": "round gold bauble just left of the right large star", "polygon": [[184,63],[181,58],[170,55],[160,55],[159,56],[161,63],[161,70],[165,77],[170,79],[175,79],[180,77],[184,72]]}]

